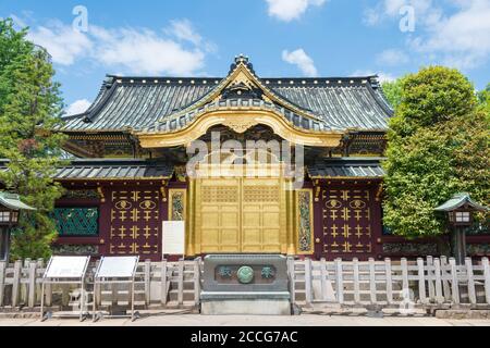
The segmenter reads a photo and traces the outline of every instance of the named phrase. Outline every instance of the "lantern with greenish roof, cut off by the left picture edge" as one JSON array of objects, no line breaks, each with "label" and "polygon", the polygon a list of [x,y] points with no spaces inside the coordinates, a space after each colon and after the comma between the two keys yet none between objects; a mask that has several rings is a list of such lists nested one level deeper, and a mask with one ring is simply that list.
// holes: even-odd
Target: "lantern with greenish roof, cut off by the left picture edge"
[{"label": "lantern with greenish roof, cut off by the left picture edge", "polygon": [[10,232],[19,223],[21,210],[36,210],[23,203],[19,195],[0,191],[0,261],[9,260]]}]

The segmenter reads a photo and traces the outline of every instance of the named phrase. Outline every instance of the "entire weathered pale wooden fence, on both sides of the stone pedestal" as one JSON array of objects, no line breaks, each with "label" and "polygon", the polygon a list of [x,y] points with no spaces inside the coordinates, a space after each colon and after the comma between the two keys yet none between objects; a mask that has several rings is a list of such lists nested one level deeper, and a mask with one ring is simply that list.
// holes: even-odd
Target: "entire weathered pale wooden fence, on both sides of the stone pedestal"
[{"label": "entire weathered pale wooden fence, on both sides of the stone pedestal", "polygon": [[[93,289],[96,263],[89,265],[87,294]],[[431,258],[416,261],[359,262],[310,259],[287,260],[292,301],[299,307],[336,303],[342,307],[490,308],[489,260]],[[13,264],[0,262],[0,311],[40,304],[42,260]],[[135,304],[143,308],[197,308],[203,261],[140,262],[136,272]],[[69,306],[70,288],[47,286],[47,306]],[[127,289],[118,289],[127,294]],[[60,294],[61,293],[61,294]],[[114,302],[114,291],[105,291],[102,302]],[[115,294],[119,298],[120,294]],[[118,299],[115,300],[118,301]],[[103,303],[102,303],[103,304]]]}]

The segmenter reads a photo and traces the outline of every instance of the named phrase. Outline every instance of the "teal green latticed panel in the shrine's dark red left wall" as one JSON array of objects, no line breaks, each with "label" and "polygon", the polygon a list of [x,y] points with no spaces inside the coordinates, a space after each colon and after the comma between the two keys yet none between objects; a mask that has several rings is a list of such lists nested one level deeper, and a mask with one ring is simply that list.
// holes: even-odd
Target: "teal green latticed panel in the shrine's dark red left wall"
[{"label": "teal green latticed panel in the shrine's dark red left wall", "polygon": [[99,234],[98,208],[56,208],[52,217],[60,236],[97,236]]}]

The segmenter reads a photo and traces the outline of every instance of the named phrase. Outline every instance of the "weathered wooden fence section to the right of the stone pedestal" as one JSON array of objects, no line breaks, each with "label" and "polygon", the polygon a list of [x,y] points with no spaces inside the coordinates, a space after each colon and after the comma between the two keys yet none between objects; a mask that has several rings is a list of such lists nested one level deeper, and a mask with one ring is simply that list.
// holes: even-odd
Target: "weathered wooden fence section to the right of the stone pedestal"
[{"label": "weathered wooden fence section to the right of the stone pedestal", "polygon": [[[456,265],[453,258],[427,257],[408,262],[290,260],[293,301],[310,307],[338,303],[344,307],[490,308],[489,260]],[[294,271],[292,271],[294,270]],[[299,288],[298,288],[299,286]]]}]

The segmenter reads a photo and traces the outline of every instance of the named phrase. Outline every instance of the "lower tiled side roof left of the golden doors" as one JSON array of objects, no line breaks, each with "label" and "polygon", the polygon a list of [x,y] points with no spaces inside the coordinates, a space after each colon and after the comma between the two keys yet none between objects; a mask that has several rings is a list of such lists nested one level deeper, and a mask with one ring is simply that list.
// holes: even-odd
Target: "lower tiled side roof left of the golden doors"
[{"label": "lower tiled side roof left of the golden doors", "polygon": [[[7,170],[8,160],[0,160],[0,171]],[[150,160],[89,159],[72,160],[59,167],[58,181],[66,179],[159,179],[173,174],[173,165]]]}]

